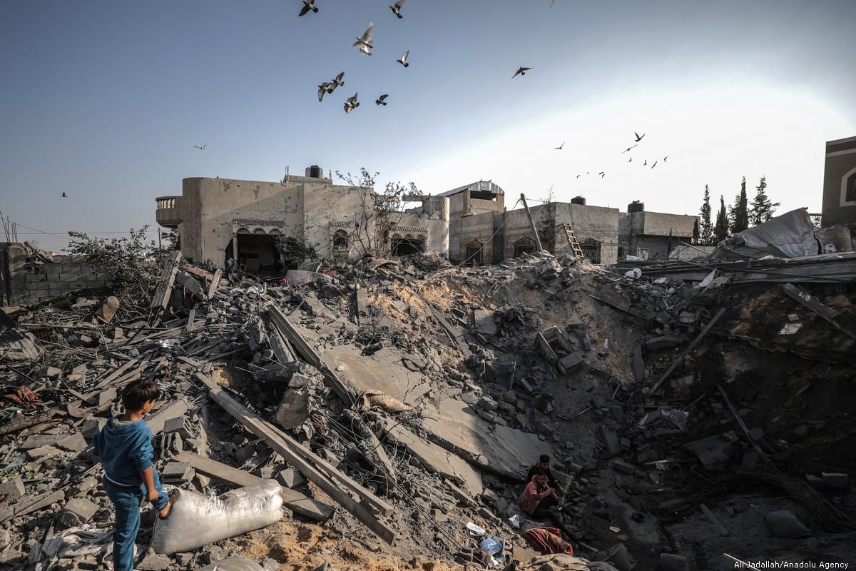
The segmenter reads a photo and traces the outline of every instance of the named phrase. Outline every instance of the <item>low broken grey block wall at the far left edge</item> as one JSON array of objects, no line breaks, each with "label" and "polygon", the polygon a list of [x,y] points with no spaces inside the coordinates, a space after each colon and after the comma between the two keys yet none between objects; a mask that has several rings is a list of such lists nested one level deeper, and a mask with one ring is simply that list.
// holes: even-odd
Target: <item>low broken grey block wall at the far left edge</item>
[{"label": "low broken grey block wall at the far left edge", "polygon": [[46,261],[24,244],[0,244],[0,301],[3,306],[44,303],[85,289],[103,288],[110,276],[86,264],[83,256]]}]

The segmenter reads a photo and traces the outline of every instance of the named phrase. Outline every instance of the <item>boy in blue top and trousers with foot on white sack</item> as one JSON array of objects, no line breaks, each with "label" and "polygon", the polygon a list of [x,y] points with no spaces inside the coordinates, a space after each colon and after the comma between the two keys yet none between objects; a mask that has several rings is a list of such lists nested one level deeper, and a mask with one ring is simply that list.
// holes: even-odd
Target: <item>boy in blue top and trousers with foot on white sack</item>
[{"label": "boy in blue top and trousers with foot on white sack", "polygon": [[95,454],[104,467],[104,490],[116,506],[113,531],[114,571],[133,571],[134,540],[140,531],[140,505],[143,499],[158,509],[158,517],[169,515],[177,494],[163,493],[158,473],[152,464],[152,431],[143,417],[152,411],[160,396],[154,381],[128,384],[122,391],[125,413],[112,417],[94,438]]}]

